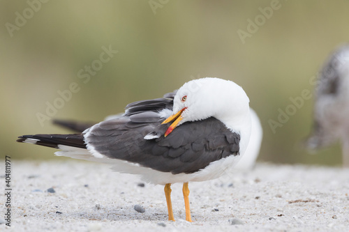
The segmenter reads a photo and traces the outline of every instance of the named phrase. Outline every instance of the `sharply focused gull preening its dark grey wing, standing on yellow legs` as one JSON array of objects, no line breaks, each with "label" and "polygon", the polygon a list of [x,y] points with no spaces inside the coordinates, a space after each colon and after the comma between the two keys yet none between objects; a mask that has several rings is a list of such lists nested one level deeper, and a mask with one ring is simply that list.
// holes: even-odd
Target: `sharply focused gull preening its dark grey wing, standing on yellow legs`
[{"label": "sharply focused gull preening its dark grey wing, standing on yellow legs", "polygon": [[164,98],[126,106],[121,116],[77,134],[35,134],[18,142],[58,148],[55,155],[112,164],[114,171],[165,185],[168,219],[174,221],[171,185],[211,180],[234,167],[251,134],[249,99],[235,82],[206,77],[186,82]]}]

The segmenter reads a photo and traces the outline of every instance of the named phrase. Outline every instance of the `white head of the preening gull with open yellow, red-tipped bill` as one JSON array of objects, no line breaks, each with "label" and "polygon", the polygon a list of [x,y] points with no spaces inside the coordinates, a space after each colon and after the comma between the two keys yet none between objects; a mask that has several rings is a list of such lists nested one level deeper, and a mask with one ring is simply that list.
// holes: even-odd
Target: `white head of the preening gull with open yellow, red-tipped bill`
[{"label": "white head of the preening gull with open yellow, red-tipped bill", "polygon": [[174,96],[173,115],[163,122],[175,120],[165,136],[181,123],[209,117],[217,118],[235,130],[234,125],[246,120],[251,123],[248,103],[245,91],[234,82],[214,77],[186,82]]}]

